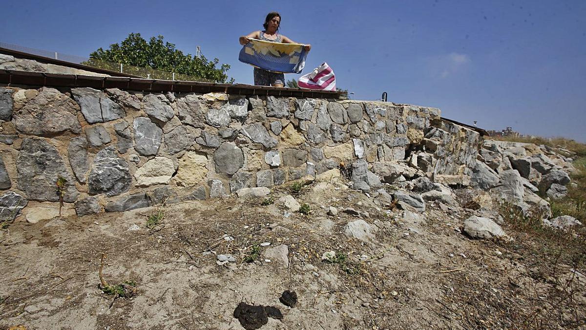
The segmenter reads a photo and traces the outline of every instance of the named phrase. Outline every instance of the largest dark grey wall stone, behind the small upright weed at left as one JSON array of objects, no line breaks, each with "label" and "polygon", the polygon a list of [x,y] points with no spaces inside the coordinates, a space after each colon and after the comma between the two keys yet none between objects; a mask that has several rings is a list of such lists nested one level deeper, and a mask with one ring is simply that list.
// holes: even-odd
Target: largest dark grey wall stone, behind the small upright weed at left
[{"label": "largest dark grey wall stone, behind the small upright weed at left", "polygon": [[18,188],[29,200],[59,201],[56,182],[66,180],[63,200],[73,203],[79,196],[73,176],[67,171],[59,151],[45,140],[25,138],[16,160]]}]

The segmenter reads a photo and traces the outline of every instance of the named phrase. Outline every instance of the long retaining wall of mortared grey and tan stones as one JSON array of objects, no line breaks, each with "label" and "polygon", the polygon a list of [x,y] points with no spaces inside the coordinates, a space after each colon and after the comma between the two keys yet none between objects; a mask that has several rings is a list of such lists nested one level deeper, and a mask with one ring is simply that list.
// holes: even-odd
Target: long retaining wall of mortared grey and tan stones
[{"label": "long retaining wall of mortared grey and tan stones", "polygon": [[[25,206],[29,221],[55,213],[59,177],[64,213],[84,215],[222,197],[420,151],[439,155],[425,160],[428,171],[462,174],[478,133],[440,122],[438,109],[386,102],[0,87],[0,216]],[[369,190],[360,179],[355,187]]]}]

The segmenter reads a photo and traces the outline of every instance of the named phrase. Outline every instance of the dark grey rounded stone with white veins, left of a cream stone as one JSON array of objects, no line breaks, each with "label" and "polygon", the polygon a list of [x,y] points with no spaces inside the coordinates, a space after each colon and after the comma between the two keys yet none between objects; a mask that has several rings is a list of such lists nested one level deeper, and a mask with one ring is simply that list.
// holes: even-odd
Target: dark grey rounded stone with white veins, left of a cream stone
[{"label": "dark grey rounded stone with white veins, left of a cream stone", "polygon": [[96,154],[88,182],[90,194],[120,195],[130,189],[131,182],[128,163],[118,157],[114,147],[104,148]]}]

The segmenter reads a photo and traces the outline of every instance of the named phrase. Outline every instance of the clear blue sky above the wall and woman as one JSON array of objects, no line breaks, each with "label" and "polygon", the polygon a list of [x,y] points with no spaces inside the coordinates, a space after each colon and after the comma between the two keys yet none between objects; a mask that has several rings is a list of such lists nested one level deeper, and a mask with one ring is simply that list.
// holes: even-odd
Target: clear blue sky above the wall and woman
[{"label": "clear blue sky above the wall and woman", "polygon": [[[586,142],[586,1],[6,1],[0,41],[88,56],[130,32],[163,35],[238,62],[237,38],[279,11],[281,33],[311,43],[356,99],[439,107],[485,129]],[[299,75],[287,75],[297,79]]]}]

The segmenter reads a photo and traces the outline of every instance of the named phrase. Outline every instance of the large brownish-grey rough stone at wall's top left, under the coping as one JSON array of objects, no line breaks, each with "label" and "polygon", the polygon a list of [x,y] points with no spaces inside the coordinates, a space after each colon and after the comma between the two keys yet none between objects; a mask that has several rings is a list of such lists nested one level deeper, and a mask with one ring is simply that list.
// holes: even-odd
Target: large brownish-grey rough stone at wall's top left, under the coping
[{"label": "large brownish-grey rough stone at wall's top left, under the coping", "polygon": [[69,131],[81,133],[77,104],[54,88],[42,87],[39,94],[12,113],[16,129],[25,134],[54,136]]}]

